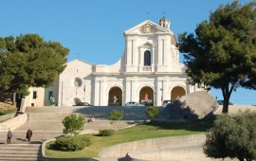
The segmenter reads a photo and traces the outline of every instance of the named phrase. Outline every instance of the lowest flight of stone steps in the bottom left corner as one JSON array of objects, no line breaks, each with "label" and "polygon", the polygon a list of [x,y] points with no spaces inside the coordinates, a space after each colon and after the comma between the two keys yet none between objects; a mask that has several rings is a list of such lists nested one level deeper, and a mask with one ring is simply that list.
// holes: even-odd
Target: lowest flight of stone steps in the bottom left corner
[{"label": "lowest flight of stone steps in the bottom left corner", "polygon": [[1,144],[0,160],[5,161],[29,161],[43,160],[41,144]]}]

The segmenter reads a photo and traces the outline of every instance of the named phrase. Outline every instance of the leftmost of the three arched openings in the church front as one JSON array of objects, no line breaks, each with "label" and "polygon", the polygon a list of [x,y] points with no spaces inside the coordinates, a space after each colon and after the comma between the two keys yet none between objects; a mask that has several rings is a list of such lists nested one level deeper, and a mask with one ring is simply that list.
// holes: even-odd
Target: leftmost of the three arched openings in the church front
[{"label": "leftmost of the three arched openings in the church front", "polygon": [[121,106],[122,105],[122,91],[119,87],[115,86],[109,90],[108,105],[109,106]]}]

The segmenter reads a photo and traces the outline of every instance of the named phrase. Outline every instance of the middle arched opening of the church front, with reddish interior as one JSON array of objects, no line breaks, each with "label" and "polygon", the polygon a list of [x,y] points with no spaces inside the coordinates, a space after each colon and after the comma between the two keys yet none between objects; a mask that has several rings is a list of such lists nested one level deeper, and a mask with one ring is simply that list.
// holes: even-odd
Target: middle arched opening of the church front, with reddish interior
[{"label": "middle arched opening of the church front, with reddish interior", "polygon": [[151,87],[143,87],[139,91],[139,103],[144,105],[154,105],[154,91]]}]

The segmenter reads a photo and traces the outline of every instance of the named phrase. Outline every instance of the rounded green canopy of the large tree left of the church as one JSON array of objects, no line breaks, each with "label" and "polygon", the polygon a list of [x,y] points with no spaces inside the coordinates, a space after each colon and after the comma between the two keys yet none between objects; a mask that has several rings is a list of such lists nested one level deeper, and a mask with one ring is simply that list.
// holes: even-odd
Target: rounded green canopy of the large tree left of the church
[{"label": "rounded green canopy of the large tree left of the church", "polygon": [[38,34],[0,37],[0,91],[27,95],[30,86],[46,87],[64,71],[69,49]]}]

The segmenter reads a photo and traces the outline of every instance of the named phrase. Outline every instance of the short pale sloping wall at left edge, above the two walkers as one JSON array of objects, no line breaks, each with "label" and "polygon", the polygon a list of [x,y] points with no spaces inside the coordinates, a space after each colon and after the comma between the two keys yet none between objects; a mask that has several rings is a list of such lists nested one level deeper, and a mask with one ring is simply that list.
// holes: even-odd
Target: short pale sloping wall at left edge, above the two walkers
[{"label": "short pale sloping wall at left edge, above the two walkers", "polygon": [[27,114],[21,114],[10,118],[9,120],[0,123],[0,131],[8,131],[17,128],[18,126],[27,122]]}]

